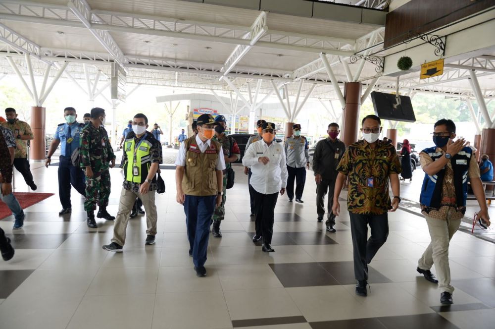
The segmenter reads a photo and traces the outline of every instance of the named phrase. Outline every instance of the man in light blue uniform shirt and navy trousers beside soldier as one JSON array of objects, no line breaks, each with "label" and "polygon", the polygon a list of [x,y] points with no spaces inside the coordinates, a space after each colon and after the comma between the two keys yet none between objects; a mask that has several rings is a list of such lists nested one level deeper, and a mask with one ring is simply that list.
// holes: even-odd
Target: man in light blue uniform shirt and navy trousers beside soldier
[{"label": "man in light blue uniform shirt and navy trousers beside soldier", "polygon": [[84,123],[76,121],[77,114],[74,108],[65,108],[64,117],[65,123],[60,123],[57,126],[57,131],[55,132],[47,159],[45,160],[45,166],[48,168],[51,163],[51,156],[61,143],[60,162],[58,164],[58,195],[62,204],[62,210],[58,212],[58,215],[70,214],[72,212],[72,205],[70,203],[71,184],[81,195],[86,195],[86,184],[84,181],[86,177],[84,176],[84,172],[80,167],[75,167],[71,161],[72,155],[77,155],[79,152],[79,137]]}]

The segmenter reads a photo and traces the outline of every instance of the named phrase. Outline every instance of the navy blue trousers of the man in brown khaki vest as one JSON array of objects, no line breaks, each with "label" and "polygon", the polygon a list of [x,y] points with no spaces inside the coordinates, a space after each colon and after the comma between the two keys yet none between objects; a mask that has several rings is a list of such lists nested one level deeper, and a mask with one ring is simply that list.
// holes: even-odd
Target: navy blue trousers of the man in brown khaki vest
[{"label": "navy blue trousers of the man in brown khaki vest", "polygon": [[195,267],[206,263],[210,221],[215,211],[215,201],[215,195],[205,197],[186,195],[184,212],[186,213],[187,237],[189,247],[193,252]]}]

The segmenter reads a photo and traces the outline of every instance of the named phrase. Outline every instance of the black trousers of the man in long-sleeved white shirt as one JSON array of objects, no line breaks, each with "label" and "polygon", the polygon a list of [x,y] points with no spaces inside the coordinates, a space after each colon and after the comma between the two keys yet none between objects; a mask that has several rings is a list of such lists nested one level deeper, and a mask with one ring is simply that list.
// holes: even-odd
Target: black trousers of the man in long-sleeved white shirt
[{"label": "black trousers of the man in long-sleeved white shirt", "polygon": [[255,220],[254,227],[256,235],[263,236],[265,243],[272,243],[274,212],[277,204],[278,192],[263,194],[253,189]]}]

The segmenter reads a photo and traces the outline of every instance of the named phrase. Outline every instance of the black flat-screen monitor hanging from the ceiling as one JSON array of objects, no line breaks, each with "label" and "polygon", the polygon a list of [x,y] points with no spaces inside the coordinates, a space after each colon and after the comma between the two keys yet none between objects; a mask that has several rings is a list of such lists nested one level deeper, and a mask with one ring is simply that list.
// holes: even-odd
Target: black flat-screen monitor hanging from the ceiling
[{"label": "black flat-screen monitor hanging from the ceiling", "polygon": [[371,100],[373,101],[375,114],[381,119],[406,122],[416,121],[410,97],[400,96],[400,104],[397,104],[396,95],[374,91],[371,93]]}]

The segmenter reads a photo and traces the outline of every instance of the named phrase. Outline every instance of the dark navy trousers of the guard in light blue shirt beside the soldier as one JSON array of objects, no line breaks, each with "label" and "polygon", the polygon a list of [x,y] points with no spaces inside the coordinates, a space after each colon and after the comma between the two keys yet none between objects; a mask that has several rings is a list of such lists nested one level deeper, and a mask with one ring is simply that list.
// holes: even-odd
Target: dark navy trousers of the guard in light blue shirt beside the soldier
[{"label": "dark navy trousers of the guard in light blue shirt beside the soldier", "polygon": [[81,168],[76,168],[70,162],[70,158],[60,156],[58,164],[58,194],[62,208],[72,208],[70,203],[70,185],[74,186],[77,192],[86,196],[86,177]]}]

